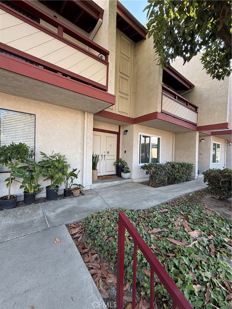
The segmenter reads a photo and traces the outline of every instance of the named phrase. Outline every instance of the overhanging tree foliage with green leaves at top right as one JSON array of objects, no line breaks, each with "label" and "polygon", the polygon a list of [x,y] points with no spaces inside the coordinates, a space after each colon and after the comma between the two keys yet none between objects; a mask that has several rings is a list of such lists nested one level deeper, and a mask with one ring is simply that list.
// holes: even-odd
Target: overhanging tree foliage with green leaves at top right
[{"label": "overhanging tree foliage with green leaves at top right", "polygon": [[201,63],[212,78],[231,74],[231,1],[148,1],[148,38],[162,69],[177,57],[183,63],[203,50]]}]

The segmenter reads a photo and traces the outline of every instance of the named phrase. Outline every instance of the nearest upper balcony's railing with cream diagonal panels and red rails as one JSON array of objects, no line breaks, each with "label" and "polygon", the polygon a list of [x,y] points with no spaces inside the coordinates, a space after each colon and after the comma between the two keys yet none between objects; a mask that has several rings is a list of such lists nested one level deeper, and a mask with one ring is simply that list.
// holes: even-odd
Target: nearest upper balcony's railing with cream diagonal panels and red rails
[{"label": "nearest upper balcony's railing with cream diagonal panels and red rails", "polygon": [[[55,27],[57,33],[1,3],[1,51],[107,90],[109,52],[30,2],[27,6],[33,15]],[[71,42],[64,33],[101,57]]]}]

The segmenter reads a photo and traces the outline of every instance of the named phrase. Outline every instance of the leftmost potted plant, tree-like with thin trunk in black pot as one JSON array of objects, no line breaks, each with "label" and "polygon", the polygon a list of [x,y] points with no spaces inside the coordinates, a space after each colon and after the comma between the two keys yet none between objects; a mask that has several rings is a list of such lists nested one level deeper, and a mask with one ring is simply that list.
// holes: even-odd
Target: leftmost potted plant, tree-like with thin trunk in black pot
[{"label": "leftmost potted plant, tree-like with thin trunk in black pot", "polygon": [[0,147],[0,164],[4,164],[10,170],[10,177],[7,177],[6,187],[8,188],[8,195],[0,197],[0,209],[14,208],[17,203],[17,195],[11,195],[11,184],[15,177],[12,176],[17,167],[28,158],[32,158],[34,150],[29,150],[29,147],[24,143],[12,144]]}]

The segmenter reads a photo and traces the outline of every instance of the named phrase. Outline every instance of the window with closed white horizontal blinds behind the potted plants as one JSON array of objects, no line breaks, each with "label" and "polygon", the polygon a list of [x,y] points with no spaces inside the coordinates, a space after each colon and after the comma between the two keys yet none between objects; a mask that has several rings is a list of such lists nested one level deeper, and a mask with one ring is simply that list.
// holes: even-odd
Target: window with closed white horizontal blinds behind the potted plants
[{"label": "window with closed white horizontal blinds behind the potted plants", "polygon": [[[0,146],[21,142],[35,149],[35,120],[33,114],[0,109]],[[8,171],[0,164],[1,173]]]}]

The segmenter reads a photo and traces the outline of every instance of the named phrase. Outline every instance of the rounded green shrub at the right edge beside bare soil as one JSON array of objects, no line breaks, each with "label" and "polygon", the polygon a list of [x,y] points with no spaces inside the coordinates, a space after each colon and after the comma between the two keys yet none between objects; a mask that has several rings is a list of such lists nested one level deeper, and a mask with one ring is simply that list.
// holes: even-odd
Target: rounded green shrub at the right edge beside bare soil
[{"label": "rounded green shrub at the right edge beside bare soil", "polygon": [[219,195],[219,200],[231,197],[231,172],[230,168],[210,168],[202,173],[210,192]]}]

